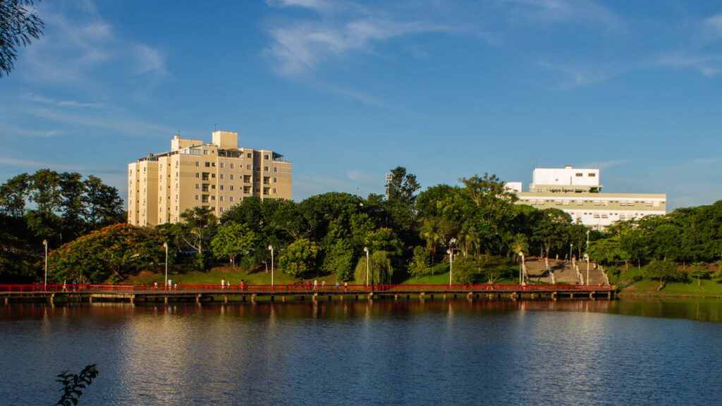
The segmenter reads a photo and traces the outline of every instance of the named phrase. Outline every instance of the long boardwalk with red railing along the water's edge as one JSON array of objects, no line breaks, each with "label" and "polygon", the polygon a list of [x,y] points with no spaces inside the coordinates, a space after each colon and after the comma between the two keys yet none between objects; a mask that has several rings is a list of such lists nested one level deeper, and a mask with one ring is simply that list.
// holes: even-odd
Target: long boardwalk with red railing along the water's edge
[{"label": "long boardwalk with red railing along the water's edge", "polygon": [[333,298],[552,299],[614,297],[614,285],[0,285],[10,302],[281,301]]}]

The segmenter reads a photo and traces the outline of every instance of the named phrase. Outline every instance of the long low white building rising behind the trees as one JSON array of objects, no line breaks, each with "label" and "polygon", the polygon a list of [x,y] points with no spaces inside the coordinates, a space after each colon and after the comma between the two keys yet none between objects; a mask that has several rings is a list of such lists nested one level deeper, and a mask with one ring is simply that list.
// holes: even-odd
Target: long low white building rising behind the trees
[{"label": "long low white building rising behind the trees", "polygon": [[555,207],[597,230],[619,220],[666,214],[666,194],[602,193],[599,169],[536,168],[532,178],[529,191],[521,190],[521,182],[507,183],[516,192],[518,204]]}]

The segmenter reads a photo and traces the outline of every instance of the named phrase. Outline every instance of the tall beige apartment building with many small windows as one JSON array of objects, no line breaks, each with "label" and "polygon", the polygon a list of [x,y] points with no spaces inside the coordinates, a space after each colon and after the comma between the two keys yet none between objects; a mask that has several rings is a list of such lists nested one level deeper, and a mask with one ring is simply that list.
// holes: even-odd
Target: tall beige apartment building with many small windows
[{"label": "tall beige apartment building with many small windows", "polygon": [[238,133],[212,141],[175,135],[170,152],[128,165],[128,223],[175,223],[183,211],[208,207],[217,216],[245,197],[291,199],[291,163],[271,150],[238,147]]}]

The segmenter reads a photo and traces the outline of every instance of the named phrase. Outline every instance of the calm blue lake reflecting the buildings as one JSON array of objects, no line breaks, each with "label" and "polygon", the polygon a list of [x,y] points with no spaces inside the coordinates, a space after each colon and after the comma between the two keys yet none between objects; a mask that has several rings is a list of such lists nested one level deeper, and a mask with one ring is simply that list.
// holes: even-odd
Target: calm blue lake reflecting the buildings
[{"label": "calm blue lake reflecting the buildings", "polygon": [[0,405],[720,405],[722,301],[0,306]]}]

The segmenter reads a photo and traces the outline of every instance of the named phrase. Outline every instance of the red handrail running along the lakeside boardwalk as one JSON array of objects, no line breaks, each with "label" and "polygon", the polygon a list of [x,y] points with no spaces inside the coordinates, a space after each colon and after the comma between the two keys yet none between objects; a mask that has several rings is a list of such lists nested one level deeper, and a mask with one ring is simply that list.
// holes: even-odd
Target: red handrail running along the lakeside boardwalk
[{"label": "red handrail running along the lakeside boardwalk", "polygon": [[616,290],[614,285],[209,285],[178,283],[172,287],[155,284],[123,285],[18,285],[0,284],[0,293],[278,293],[278,294],[351,294],[351,293],[481,293],[481,292],[589,292]]}]

